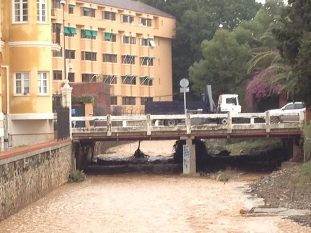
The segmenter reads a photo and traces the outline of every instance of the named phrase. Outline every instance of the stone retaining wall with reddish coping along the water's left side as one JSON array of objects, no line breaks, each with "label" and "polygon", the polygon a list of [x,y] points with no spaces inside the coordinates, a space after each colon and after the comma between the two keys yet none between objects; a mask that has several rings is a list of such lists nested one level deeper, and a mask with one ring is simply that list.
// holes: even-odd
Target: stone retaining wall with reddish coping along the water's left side
[{"label": "stone retaining wall with reddish coping along the water's left side", "polygon": [[0,221],[67,182],[71,140],[0,153]]}]

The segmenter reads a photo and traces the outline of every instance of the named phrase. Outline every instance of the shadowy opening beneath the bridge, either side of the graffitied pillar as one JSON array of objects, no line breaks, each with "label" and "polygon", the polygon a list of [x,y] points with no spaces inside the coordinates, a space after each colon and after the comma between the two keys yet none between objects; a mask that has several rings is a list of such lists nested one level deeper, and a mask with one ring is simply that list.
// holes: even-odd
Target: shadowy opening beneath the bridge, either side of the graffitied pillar
[{"label": "shadowy opening beneath the bridge, either side of the graffitied pillar", "polygon": [[[144,145],[147,143],[147,146]],[[122,149],[116,147],[102,156],[98,156],[87,167],[87,172],[101,171],[107,174],[115,173],[182,173],[183,170],[183,145],[185,140],[171,141],[170,154],[162,154],[164,147],[162,141],[141,141],[131,143],[131,153],[124,154]],[[215,172],[230,169],[243,171],[273,171],[281,166],[281,163],[289,159],[286,149],[276,147],[266,150],[258,149],[255,153],[232,155],[231,151],[211,150],[208,140],[194,139],[196,150],[197,172]],[[213,143],[217,145],[217,143]],[[140,145],[145,147],[141,148]],[[168,147],[167,143],[165,145]],[[276,144],[278,146],[278,144]],[[122,147],[121,147],[122,148]],[[120,149],[120,150],[119,150]],[[123,148],[124,149],[124,148]],[[150,151],[153,151],[152,154]],[[111,156],[114,154],[116,156]]]}]

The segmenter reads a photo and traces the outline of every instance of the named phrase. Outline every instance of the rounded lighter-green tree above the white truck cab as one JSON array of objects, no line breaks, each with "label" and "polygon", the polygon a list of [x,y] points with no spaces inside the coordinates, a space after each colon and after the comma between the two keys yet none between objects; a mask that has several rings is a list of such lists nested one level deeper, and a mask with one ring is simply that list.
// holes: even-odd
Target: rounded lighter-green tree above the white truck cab
[{"label": "rounded lighter-green tree above the white truck cab", "polygon": [[235,33],[218,30],[212,40],[202,43],[203,59],[189,69],[192,88],[199,94],[205,85],[211,84],[216,96],[234,93],[249,76],[246,43],[239,44]]}]

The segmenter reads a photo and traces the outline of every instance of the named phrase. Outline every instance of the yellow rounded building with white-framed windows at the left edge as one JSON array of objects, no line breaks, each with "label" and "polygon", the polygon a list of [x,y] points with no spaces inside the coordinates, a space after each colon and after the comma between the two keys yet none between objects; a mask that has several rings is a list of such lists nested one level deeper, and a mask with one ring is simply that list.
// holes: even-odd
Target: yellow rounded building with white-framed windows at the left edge
[{"label": "yellow rounded building with white-framed windows at the left edge", "polygon": [[49,0],[0,0],[0,102],[9,146],[54,137],[51,8]]}]

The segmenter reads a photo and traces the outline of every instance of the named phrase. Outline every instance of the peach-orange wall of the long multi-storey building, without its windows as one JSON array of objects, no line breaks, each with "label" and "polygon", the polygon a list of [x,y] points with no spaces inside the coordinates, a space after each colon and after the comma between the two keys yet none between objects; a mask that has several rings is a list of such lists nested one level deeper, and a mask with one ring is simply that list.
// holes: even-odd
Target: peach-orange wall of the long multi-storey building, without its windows
[{"label": "peach-orange wall of the long multi-storey building, without its windows", "polygon": [[[123,113],[140,114],[144,112],[144,106],[140,105],[140,97],[155,97],[169,95],[161,100],[172,100],[172,38],[175,34],[175,19],[173,17],[154,16],[145,13],[131,12],[125,9],[117,9],[97,4],[83,3],[83,1],[73,2],[76,4],[74,14],[68,14],[68,7],[65,7],[65,26],[76,28],[77,35],[73,37],[66,36],[66,50],[75,50],[75,59],[66,59],[67,63],[73,65],[70,72],[75,73],[75,82],[82,82],[82,73],[91,74],[115,74],[117,75],[117,84],[112,84],[110,88],[111,96],[118,96],[118,105],[122,105],[122,97],[136,97],[136,105],[123,105]],[[81,16],[81,7],[94,7],[96,17]],[[113,11],[117,13],[116,21],[102,19],[102,11]],[[63,22],[63,10],[55,9],[55,16],[52,17],[52,23]],[[122,23],[121,15],[134,15],[132,24]],[[152,18],[152,27],[140,26],[139,17]],[[81,29],[91,29],[98,31],[96,40],[82,39]],[[63,25],[61,32],[63,32]],[[116,33],[116,42],[106,42],[103,33]],[[136,44],[122,44],[122,35],[132,35],[136,37]],[[63,44],[63,33],[61,33],[60,44]],[[154,38],[156,47],[140,46],[139,38]],[[97,61],[81,61],[81,51],[97,52]],[[104,63],[103,53],[117,54],[117,63]],[[135,65],[121,64],[121,55],[133,54]],[[155,57],[154,66],[140,66],[139,57]],[[53,70],[63,70],[63,57],[53,57]],[[64,74],[64,73],[63,73]],[[136,85],[121,84],[121,75],[137,75]],[[140,85],[139,76],[154,77],[152,86]],[[64,75],[63,75],[64,79]],[[53,93],[59,92],[63,81],[53,81]],[[155,98],[155,100],[159,100]]]}]

